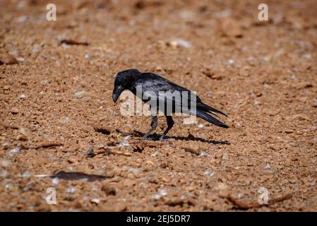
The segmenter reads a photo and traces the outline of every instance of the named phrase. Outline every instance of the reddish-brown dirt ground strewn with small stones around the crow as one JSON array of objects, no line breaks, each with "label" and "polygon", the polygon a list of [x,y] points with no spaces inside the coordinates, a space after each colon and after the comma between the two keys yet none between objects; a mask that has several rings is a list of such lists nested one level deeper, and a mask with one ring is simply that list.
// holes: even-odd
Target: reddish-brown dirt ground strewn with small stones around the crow
[{"label": "reddish-brown dirt ground strewn with small stones around the crow", "polygon": [[[49,1],[47,21],[48,2],[0,1],[0,210],[237,211],[226,196],[264,187],[292,198],[250,211],[316,211],[317,2],[265,1],[259,21],[261,2]],[[112,102],[129,68],[196,90],[230,128],[175,117],[140,141],[150,117]],[[105,178],[41,176],[61,170]]]}]

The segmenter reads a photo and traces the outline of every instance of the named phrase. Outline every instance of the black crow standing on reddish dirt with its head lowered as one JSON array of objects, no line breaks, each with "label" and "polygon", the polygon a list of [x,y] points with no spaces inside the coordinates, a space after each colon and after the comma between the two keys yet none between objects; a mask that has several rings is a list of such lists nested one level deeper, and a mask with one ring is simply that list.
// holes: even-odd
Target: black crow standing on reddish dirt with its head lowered
[{"label": "black crow standing on reddish dirt with its head lowered", "polygon": [[[138,95],[138,88],[141,88],[139,94],[141,94],[142,96]],[[167,79],[162,78],[155,73],[141,73],[136,69],[128,69],[126,71],[121,71],[117,73],[116,78],[114,79],[114,92],[112,94],[112,99],[114,100],[114,102],[118,100],[119,95],[124,90],[130,90],[134,95],[140,97],[141,100],[145,103],[148,103],[149,99],[152,100],[152,98],[156,98],[156,108],[152,109],[152,105],[150,105],[151,112],[157,113],[158,110],[161,110],[162,112],[164,112],[167,119],[167,129],[160,137],[160,140],[162,140],[168,133],[168,131],[172,129],[174,121],[171,114],[175,112],[180,112],[179,109],[181,109],[181,112],[183,113],[193,114],[196,117],[205,119],[205,121],[215,124],[216,126],[220,126],[223,128],[229,127],[222,121],[215,119],[215,117],[217,117],[215,113],[222,114],[227,117],[225,113],[220,112],[213,107],[205,105],[201,101],[201,98],[196,96],[190,90],[183,88],[175,83],[172,83],[171,81],[168,81]],[[175,91],[179,92],[180,97],[173,95]],[[160,93],[162,94],[162,92],[165,92],[164,96],[160,95]],[[193,106],[193,104],[196,105],[196,109],[191,109],[191,106]],[[213,114],[213,116],[215,117],[210,114]],[[151,129],[150,131],[145,133],[142,139],[147,138],[148,135],[150,135],[150,133],[152,133],[152,131],[156,129],[156,127],[157,114],[152,114]]]}]

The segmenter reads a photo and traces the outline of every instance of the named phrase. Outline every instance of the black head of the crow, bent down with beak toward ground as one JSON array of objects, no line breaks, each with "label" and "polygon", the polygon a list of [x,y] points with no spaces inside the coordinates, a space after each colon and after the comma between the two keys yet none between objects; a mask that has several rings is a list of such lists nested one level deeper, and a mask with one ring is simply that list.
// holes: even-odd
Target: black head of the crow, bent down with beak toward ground
[{"label": "black head of the crow, bent down with beak toward ground", "polygon": [[114,92],[112,93],[112,100],[116,102],[122,91],[130,88],[139,75],[140,71],[136,69],[128,69],[117,73],[116,78],[114,78]]}]

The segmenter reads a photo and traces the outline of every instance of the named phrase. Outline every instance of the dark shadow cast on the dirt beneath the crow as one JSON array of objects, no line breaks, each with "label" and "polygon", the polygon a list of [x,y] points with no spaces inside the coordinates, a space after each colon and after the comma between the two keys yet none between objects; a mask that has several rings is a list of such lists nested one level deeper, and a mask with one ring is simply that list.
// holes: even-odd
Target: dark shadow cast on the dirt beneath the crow
[{"label": "dark shadow cast on the dirt beneath the crow", "polygon": [[[131,133],[132,136],[142,137],[145,135],[145,133],[142,133],[140,131],[134,130],[133,133]],[[160,136],[157,133],[152,133],[148,136],[148,140],[152,141],[160,141]],[[201,141],[203,143],[213,143],[213,144],[222,144],[222,145],[230,145],[229,141],[214,141],[214,140],[205,140],[204,138],[195,137],[191,134],[189,136],[165,136],[164,140],[167,139],[174,139],[176,141]]]}]

